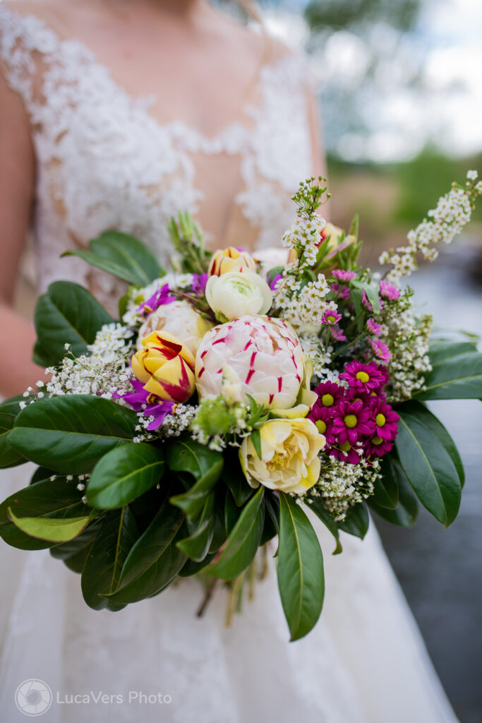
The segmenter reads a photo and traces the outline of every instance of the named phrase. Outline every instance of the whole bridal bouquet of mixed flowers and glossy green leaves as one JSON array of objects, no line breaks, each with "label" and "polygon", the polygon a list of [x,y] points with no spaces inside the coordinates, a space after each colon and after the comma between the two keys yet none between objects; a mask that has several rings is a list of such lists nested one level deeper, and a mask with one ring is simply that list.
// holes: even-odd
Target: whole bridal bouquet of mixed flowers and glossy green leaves
[{"label": "whole bridal bouquet of mixed flowers and glossy green leaves", "polygon": [[211,254],[181,214],[169,273],[114,231],[72,252],[130,284],[119,320],[75,283],[39,299],[50,381],[0,406],[1,465],[38,469],[0,506],[0,535],[82,573],[93,609],[198,573],[208,596],[230,586],[234,608],[277,537],[296,640],[322,609],[314,515],[335,553],[340,531],[363,538],[369,509],[403,526],[417,499],[444,526],[457,515],[460,455],[425,402],[482,397],[482,354],[470,335],[430,338],[400,279],[468,223],[482,184],[473,171],[454,184],[380,275],[357,264],[356,221],[345,234],[317,214],[323,180],[293,197],[280,262]]}]

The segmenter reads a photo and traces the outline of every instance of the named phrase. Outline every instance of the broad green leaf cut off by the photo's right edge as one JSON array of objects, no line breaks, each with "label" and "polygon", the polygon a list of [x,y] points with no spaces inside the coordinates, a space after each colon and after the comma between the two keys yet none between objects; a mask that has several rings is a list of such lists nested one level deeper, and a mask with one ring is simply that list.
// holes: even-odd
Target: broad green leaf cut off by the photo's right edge
[{"label": "broad green leaf cut off by the photo's right edge", "polygon": [[426,389],[416,399],[480,399],[482,397],[482,354],[451,356],[436,364],[425,378]]}]

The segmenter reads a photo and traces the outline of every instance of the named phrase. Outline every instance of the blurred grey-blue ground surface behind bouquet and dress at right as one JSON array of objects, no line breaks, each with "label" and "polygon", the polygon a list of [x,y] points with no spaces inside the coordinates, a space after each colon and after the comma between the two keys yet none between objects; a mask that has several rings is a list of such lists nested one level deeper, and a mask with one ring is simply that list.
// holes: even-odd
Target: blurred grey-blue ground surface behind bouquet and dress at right
[{"label": "blurred grey-blue ground surface behind bouquet and dress at right", "polygon": [[[443,249],[439,260],[410,278],[410,286],[439,325],[482,336],[482,279],[477,286],[470,274],[477,261],[471,240]],[[467,480],[460,513],[447,530],[423,508],[412,530],[378,519],[376,526],[460,721],[480,723],[482,403],[440,401],[430,408],[462,454]]]}]

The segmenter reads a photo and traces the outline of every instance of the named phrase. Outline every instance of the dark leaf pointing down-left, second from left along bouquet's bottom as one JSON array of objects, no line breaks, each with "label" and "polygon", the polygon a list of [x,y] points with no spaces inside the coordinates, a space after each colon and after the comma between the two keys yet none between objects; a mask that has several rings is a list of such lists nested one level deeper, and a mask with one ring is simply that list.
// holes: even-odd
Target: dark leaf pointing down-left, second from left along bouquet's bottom
[{"label": "dark leaf pointing down-left, second from left along bouquet's bottom", "polygon": [[111,602],[137,602],[167,587],[186,562],[186,555],[176,547],[185,533],[181,510],[171,505],[160,508],[127,555],[118,588],[106,595]]}]

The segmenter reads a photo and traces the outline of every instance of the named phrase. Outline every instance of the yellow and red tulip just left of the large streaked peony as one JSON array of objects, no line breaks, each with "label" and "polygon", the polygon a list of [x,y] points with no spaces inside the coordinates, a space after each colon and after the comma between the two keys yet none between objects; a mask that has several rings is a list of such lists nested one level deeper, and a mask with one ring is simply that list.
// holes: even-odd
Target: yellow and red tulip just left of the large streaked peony
[{"label": "yellow and red tulip just left of the large streaked peony", "polygon": [[185,402],[194,393],[194,356],[167,331],[142,339],[141,351],[132,357],[134,376],[147,392],[161,399]]}]

